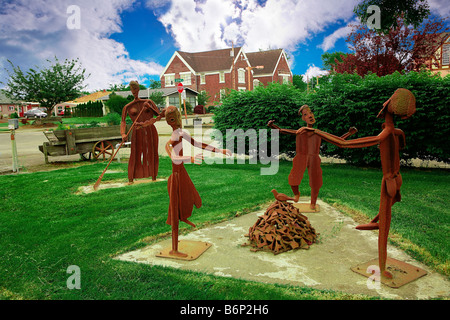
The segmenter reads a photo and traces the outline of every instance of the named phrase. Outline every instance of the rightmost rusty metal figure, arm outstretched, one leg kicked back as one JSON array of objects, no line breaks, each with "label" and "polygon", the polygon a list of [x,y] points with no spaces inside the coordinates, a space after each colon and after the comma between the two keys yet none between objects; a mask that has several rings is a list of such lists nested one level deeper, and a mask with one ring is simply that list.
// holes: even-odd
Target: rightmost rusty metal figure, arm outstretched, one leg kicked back
[{"label": "rightmost rusty metal figure, arm outstretched, one leg kicked back", "polygon": [[363,148],[379,145],[383,179],[381,182],[380,207],[377,216],[368,224],[359,225],[360,230],[379,229],[378,235],[378,263],[380,273],[386,278],[392,274],[386,269],[387,240],[391,224],[391,207],[401,200],[399,150],[405,147],[405,134],[394,127],[394,114],[407,119],[416,111],[414,95],[407,89],[397,89],[395,93],[383,104],[378,118],[384,118],[382,131],[378,136],[364,137],[354,140],[344,140],[326,132],[311,127],[299,129],[299,133],[313,131],[322,139],[342,148]]}]

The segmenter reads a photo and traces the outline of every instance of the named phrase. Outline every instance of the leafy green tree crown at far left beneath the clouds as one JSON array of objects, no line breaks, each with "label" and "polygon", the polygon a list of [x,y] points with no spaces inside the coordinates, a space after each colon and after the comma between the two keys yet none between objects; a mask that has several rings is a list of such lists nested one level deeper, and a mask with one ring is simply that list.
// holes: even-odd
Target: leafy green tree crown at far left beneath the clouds
[{"label": "leafy green tree crown at far left beneath the clouds", "polygon": [[[41,107],[52,113],[53,107],[61,102],[73,100],[80,96],[85,87],[86,70],[81,67],[78,59],[66,59],[61,63],[55,57],[55,61],[47,60],[51,66],[43,69],[29,69],[26,73],[20,67],[8,60],[12,71],[8,73],[8,82],[5,93],[17,100],[39,102]],[[88,75],[89,76],[89,75]]]}]

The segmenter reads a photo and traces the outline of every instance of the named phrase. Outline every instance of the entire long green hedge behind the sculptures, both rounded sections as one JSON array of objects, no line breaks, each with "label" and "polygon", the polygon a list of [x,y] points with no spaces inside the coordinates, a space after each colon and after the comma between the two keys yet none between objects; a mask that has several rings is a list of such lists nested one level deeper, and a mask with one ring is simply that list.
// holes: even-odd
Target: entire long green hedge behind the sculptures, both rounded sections
[{"label": "entire long green hedge behind the sculptures, both rounded sections", "polygon": [[[267,128],[271,119],[281,128],[298,129],[305,123],[297,111],[301,105],[308,104],[317,120],[315,127],[323,131],[342,135],[354,126],[358,133],[350,139],[378,135],[383,119],[376,116],[397,88],[409,89],[416,96],[416,113],[406,120],[394,119],[396,127],[406,135],[406,148],[401,152],[405,164],[414,158],[450,163],[450,76],[428,72],[396,72],[384,77],[370,74],[364,78],[357,74],[336,74],[328,76],[328,81],[313,93],[278,83],[254,91],[232,91],[215,110],[215,128],[222,132],[224,139],[226,129]],[[280,135],[279,150],[292,154],[295,138]],[[356,165],[380,165],[375,146],[364,150],[341,149],[322,142],[321,154]]]}]

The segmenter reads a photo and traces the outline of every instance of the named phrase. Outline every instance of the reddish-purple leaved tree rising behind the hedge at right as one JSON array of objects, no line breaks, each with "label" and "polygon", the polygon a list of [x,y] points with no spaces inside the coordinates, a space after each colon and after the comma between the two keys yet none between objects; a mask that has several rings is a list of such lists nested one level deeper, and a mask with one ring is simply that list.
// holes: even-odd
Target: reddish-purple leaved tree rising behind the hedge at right
[{"label": "reddish-purple leaved tree rising behind the hedge at right", "polygon": [[396,27],[391,27],[388,33],[378,33],[364,24],[356,25],[346,40],[353,53],[336,64],[335,72],[357,72],[361,76],[371,72],[384,76],[430,67],[431,58],[435,61],[439,58],[437,48],[445,39],[442,33],[447,30],[440,18],[413,28],[400,16]]}]

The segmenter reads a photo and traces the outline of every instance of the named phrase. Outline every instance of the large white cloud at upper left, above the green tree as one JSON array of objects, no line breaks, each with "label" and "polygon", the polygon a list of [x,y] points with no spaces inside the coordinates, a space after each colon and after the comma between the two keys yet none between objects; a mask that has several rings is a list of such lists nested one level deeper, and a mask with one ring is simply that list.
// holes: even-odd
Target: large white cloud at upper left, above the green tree
[{"label": "large white cloud at upper left, above the green tree", "polygon": [[[159,75],[163,67],[133,60],[122,43],[109,36],[121,32],[120,13],[135,0],[20,0],[0,8],[0,60],[26,69],[43,60],[79,58],[91,76],[87,90],[103,89],[128,79]],[[80,8],[80,29],[70,30],[67,8]],[[5,79],[1,79],[4,81]]]}]

